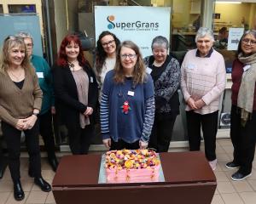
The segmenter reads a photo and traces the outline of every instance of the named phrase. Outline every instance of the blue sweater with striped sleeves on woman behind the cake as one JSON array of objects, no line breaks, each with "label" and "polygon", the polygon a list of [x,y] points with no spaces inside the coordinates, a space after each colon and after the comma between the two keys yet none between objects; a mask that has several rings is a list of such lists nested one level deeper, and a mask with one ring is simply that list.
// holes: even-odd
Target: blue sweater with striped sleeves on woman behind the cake
[{"label": "blue sweater with striped sleeves on woman behind the cake", "polygon": [[[113,71],[108,71],[102,89],[101,128],[102,139],[110,137],[117,142],[137,140],[148,142],[154,123],[154,84],[150,75],[146,82],[133,87],[132,78],[124,83],[113,82]],[[128,91],[134,95],[128,95]],[[129,102],[131,110],[123,112],[122,105]]]}]

